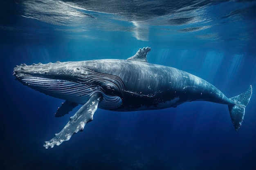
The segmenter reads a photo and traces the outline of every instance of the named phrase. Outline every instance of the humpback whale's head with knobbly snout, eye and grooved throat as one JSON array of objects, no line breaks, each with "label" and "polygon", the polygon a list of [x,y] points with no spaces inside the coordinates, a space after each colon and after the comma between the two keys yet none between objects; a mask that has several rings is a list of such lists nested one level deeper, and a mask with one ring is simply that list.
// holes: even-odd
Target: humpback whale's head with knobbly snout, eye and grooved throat
[{"label": "humpback whale's head with knobbly snout, eye and grooved throat", "polygon": [[13,75],[36,91],[77,104],[85,104],[90,96],[100,92],[103,94],[100,108],[118,108],[124,85],[119,77],[101,73],[97,64],[96,60],[21,64],[14,68]]}]

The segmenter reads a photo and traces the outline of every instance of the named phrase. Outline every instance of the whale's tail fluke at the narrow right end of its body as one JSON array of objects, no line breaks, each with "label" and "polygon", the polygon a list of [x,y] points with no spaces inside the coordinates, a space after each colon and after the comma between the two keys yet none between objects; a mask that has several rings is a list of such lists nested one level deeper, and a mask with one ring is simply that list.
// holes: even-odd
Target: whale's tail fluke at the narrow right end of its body
[{"label": "whale's tail fluke at the narrow right end of its body", "polygon": [[251,96],[252,85],[250,85],[250,87],[245,93],[229,98],[231,101],[235,103],[235,105],[229,105],[229,113],[236,131],[240,128],[243,122],[245,115],[245,107],[249,103]]}]

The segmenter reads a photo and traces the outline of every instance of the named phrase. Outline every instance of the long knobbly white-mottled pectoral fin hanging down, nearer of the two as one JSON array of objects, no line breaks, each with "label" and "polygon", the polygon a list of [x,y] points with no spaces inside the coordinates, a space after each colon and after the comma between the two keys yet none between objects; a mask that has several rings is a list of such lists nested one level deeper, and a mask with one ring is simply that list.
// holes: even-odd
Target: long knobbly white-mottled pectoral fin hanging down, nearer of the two
[{"label": "long knobbly white-mottled pectoral fin hanging down, nearer of the two", "polygon": [[85,103],[75,114],[70,117],[70,121],[61,130],[55,134],[50,141],[45,141],[44,147],[53,148],[55,145],[59,146],[63,141],[68,141],[72,135],[83,131],[85,124],[92,121],[93,114],[98,108],[98,104],[102,99],[101,93],[94,93],[87,103]]}]

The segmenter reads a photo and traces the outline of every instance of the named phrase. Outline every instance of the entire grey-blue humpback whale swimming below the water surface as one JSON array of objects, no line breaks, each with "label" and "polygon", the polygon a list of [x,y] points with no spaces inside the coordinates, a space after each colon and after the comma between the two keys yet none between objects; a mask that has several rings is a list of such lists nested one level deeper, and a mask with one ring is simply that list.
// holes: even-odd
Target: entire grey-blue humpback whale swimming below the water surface
[{"label": "entire grey-blue humpback whale swimming below the water surface", "polygon": [[218,88],[177,68],[150,64],[144,47],[127,60],[88,60],[48,64],[20,64],[13,75],[22,84],[64,99],[55,116],[68,114],[82,105],[55,136],[45,141],[53,148],[83,131],[97,108],[113,111],[154,110],[176,107],[184,102],[209,101],[226,104],[235,130],[242,124],[252,85],[244,93],[227,98]]}]

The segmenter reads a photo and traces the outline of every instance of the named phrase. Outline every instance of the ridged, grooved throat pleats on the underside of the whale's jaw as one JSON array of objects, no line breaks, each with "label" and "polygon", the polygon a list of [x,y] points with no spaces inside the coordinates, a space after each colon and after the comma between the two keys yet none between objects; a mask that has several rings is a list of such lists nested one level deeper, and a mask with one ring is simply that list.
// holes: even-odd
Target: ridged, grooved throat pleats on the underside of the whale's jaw
[{"label": "ridged, grooved throat pleats on the underside of the whale's jaw", "polygon": [[103,95],[99,108],[114,109],[121,106],[122,99],[119,96],[106,95],[101,88],[95,84],[79,84],[72,81],[61,79],[48,79],[43,77],[23,77],[21,81],[46,95],[64,99],[77,104],[85,104],[90,96],[96,92]]}]

